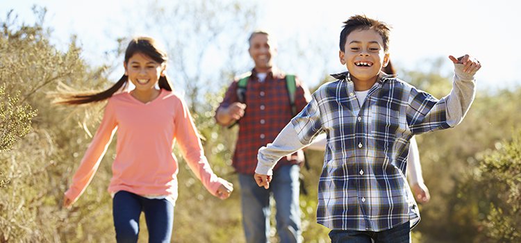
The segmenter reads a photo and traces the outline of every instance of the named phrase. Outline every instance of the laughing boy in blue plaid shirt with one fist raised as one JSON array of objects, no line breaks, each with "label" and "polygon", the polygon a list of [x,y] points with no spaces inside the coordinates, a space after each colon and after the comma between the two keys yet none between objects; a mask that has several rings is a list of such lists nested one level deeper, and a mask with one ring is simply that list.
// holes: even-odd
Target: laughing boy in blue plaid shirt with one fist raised
[{"label": "laughing boy in blue plaid shirt with one fist raised", "polygon": [[404,176],[413,135],[454,127],[475,95],[481,67],[468,55],[454,62],[453,89],[436,99],[381,72],[389,60],[389,28],[355,15],[340,33],[340,62],[347,72],[322,85],[311,102],[259,149],[254,178],[270,187],[276,160],[326,133],[318,185],[317,222],[332,242],[410,242],[420,214]]}]

